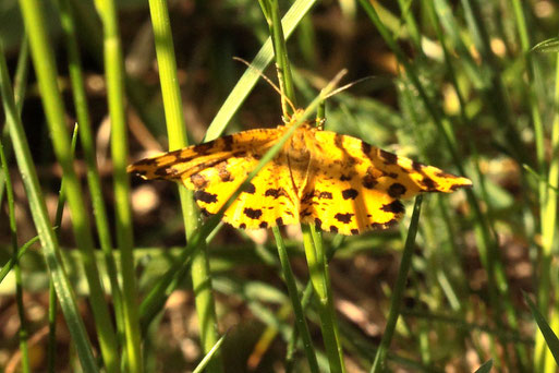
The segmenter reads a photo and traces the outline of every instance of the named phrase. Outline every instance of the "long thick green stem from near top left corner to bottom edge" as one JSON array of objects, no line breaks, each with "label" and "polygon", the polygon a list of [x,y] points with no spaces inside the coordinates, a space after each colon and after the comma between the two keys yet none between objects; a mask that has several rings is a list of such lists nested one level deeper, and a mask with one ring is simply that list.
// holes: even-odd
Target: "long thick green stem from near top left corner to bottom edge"
[{"label": "long thick green stem from near top left corner to bottom edge", "polygon": [[85,210],[82,188],[72,164],[70,139],[65,128],[64,106],[57,85],[57,69],[53,48],[45,26],[42,3],[38,0],[20,0],[20,8],[29,36],[32,60],[41,94],[41,100],[51,135],[52,147],[63,170],[68,204],[72,214],[72,228],[89,287],[89,304],[105,366],[109,373],[119,371],[118,340],[112,326],[105,291],[100,284],[99,270],[95,262],[94,242],[88,214]]}]

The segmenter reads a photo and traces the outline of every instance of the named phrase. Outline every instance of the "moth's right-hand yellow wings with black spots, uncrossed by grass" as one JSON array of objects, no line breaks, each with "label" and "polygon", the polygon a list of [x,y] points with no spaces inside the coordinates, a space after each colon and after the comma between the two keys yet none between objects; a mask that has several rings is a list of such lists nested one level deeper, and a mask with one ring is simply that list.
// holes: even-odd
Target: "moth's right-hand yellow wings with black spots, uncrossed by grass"
[{"label": "moth's right-hand yellow wings with black spots, uncrossed by grass", "polygon": [[446,173],[374,147],[359,139],[316,131],[301,221],[323,230],[359,234],[387,228],[404,214],[400,198],[420,192],[452,192],[471,186],[466,178]]}]

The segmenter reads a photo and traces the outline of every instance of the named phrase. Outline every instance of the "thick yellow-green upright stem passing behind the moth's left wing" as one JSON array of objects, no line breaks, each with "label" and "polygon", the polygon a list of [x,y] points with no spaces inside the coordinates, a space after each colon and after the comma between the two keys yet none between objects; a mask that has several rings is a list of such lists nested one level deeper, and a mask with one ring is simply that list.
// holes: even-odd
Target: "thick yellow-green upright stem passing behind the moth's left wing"
[{"label": "thick yellow-green upright stem passing behind the moth's left wing", "polygon": [[[151,15],[157,62],[159,67],[159,80],[161,84],[167,133],[169,137],[169,151],[174,151],[189,146],[189,139],[186,136],[186,125],[184,123],[181,91],[177,74],[174,46],[171,35],[167,1],[150,0],[149,11]],[[192,191],[186,190],[180,184],[178,184],[177,188],[179,188],[186,241],[189,241],[193,232],[199,227],[199,212],[194,203]],[[202,349],[205,353],[209,353],[209,351],[215,349],[219,334],[211,287],[211,273],[204,241],[200,241],[200,248],[195,254],[193,254],[191,277],[192,287],[194,289],[196,312],[198,315]],[[211,356],[214,356],[214,353]],[[223,371],[223,365],[219,354],[216,354],[215,359],[209,362],[207,371],[216,373]]]}]

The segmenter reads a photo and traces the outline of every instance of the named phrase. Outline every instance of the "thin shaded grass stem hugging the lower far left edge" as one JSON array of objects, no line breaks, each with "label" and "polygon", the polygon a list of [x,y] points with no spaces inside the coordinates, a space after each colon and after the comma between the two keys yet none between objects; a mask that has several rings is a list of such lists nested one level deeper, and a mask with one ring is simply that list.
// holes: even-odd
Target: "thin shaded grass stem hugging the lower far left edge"
[{"label": "thin shaded grass stem hugging the lower far left edge", "polygon": [[[17,257],[17,225],[15,222],[15,203],[13,197],[12,179],[10,178],[10,169],[8,168],[8,160],[5,159],[4,148],[0,142],[0,161],[2,164],[2,173],[5,181],[5,194],[8,201],[8,215],[10,219],[10,241],[12,243],[12,258]],[[29,372],[29,349],[27,346],[27,321],[25,317],[25,308],[23,304],[23,287],[22,287],[22,270],[19,262],[14,261],[14,274],[15,274],[15,300],[17,304],[17,315],[20,316],[20,330],[17,333],[20,337],[20,352],[21,357],[21,370],[24,373]]]}]

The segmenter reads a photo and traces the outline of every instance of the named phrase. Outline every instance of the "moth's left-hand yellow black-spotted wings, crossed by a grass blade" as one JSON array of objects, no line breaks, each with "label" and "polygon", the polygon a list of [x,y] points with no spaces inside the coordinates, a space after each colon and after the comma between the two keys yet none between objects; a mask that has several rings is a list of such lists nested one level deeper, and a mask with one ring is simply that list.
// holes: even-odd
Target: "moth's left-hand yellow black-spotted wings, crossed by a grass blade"
[{"label": "moth's left-hand yellow black-spotted wings, crossed by a grass blade", "polygon": [[[139,160],[127,171],[148,180],[182,182],[194,191],[203,213],[216,214],[282,134],[282,129],[239,132]],[[287,165],[280,152],[229,206],[222,220],[247,229],[299,221]]]}]

